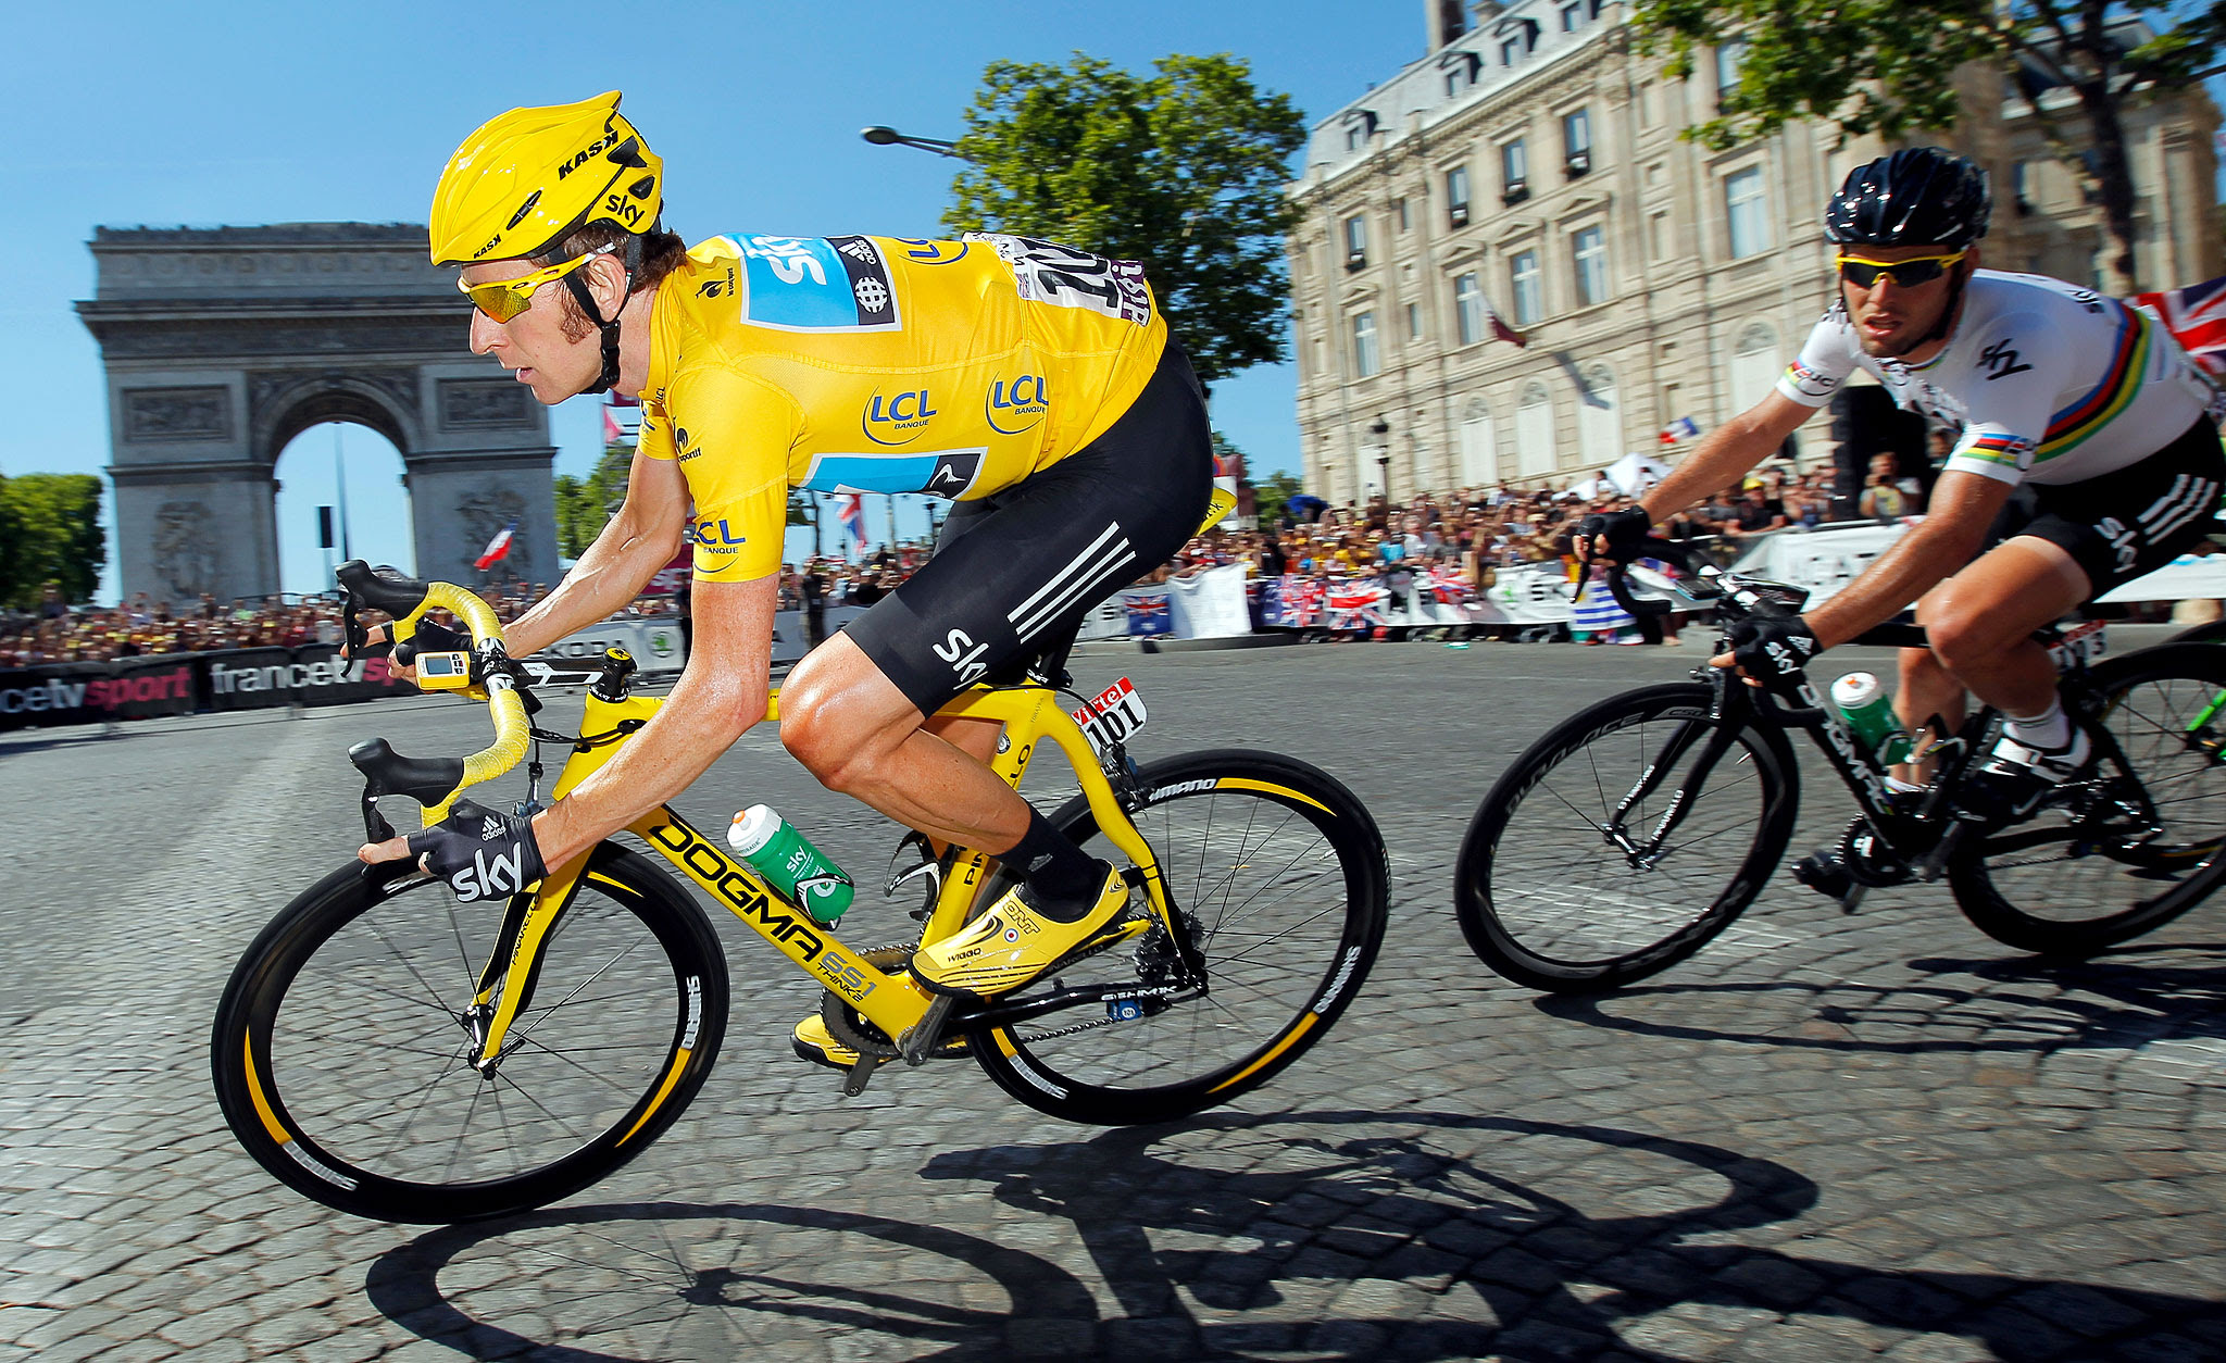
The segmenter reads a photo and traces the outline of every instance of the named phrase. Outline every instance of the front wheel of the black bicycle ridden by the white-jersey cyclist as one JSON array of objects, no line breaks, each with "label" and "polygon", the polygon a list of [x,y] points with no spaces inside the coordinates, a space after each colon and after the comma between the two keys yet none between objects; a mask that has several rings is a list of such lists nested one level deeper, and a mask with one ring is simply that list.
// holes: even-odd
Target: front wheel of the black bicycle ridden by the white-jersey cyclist
[{"label": "front wheel of the black bicycle ridden by the white-jersey cyclist", "polygon": [[[1721,891],[1665,891],[1658,884],[1667,880],[1661,875],[1665,866],[1701,869],[1705,884],[1727,864],[1730,849],[1710,844],[1743,824],[1718,824],[1714,813],[1710,822],[1696,822],[1701,800],[1687,808],[1667,855],[1645,869],[1621,855],[1600,831],[1674,726],[1707,722],[1710,695],[1698,682],[1627,690],[1560,722],[1500,773],[1476,806],[1454,866],[1454,911],[1478,960],[1529,989],[1616,989],[1685,960],[1745,911],[1785,857],[1794,833],[1799,779],[1783,730],[1741,724],[1734,746],[1701,791],[1752,788],[1754,842],[1732,864]],[[1690,771],[1698,748],[1685,748],[1681,771]],[[1576,759],[1585,762],[1583,771],[1572,768],[1580,779],[1556,782],[1554,773]],[[1600,768],[1603,759],[1609,771]],[[1629,811],[1627,826],[1645,833],[1676,788],[1678,773],[1672,773]],[[1560,808],[1540,806],[1552,808],[1554,820],[1534,826],[1525,811],[1540,793],[1554,795]],[[1710,808],[1723,806],[1716,802]],[[1692,902],[1705,906],[1687,911]]]}]

